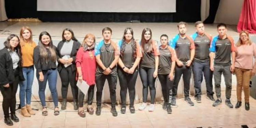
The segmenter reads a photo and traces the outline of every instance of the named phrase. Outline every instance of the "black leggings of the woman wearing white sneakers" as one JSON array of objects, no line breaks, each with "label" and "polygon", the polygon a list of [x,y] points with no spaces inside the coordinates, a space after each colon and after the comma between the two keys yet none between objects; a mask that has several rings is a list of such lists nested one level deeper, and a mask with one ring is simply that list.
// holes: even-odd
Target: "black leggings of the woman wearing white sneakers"
[{"label": "black leggings of the woman wearing white sneakers", "polygon": [[140,67],[140,78],[143,85],[143,102],[147,102],[148,86],[150,88],[150,102],[153,104],[156,97],[156,78],[153,77],[155,68],[141,68]]}]

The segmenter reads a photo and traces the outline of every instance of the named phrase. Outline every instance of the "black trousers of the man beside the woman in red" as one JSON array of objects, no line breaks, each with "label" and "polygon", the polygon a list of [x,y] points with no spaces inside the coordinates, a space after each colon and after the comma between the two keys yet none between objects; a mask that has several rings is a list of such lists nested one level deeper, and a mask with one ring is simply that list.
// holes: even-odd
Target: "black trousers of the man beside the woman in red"
[{"label": "black trousers of the man beside the woman in red", "polygon": [[97,106],[101,106],[101,98],[102,98],[102,91],[105,84],[105,80],[108,80],[109,83],[109,92],[110,92],[110,99],[111,99],[111,107],[115,108],[116,105],[116,81],[117,81],[117,75],[100,75],[96,76],[96,87],[97,87],[97,93],[96,93],[96,100],[97,100]]}]

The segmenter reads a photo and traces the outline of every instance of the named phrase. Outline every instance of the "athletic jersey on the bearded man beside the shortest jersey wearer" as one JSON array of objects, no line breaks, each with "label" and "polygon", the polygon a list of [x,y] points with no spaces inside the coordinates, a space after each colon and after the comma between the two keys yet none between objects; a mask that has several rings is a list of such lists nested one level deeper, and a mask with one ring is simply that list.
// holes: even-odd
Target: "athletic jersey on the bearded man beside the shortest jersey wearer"
[{"label": "athletic jersey on the bearded man beside the shortest jersey wearer", "polygon": [[177,59],[183,63],[190,60],[190,51],[191,49],[195,49],[193,39],[187,35],[185,38],[181,38],[180,34],[177,34],[172,41],[170,41],[170,46],[175,49]]}]

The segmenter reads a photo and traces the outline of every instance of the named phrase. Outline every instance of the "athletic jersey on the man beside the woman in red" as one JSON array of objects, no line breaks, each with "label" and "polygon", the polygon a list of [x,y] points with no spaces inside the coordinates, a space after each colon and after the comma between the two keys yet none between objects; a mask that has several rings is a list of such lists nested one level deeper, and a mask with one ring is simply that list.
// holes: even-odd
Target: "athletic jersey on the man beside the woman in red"
[{"label": "athletic jersey on the man beside the woman in red", "polygon": [[[105,67],[109,67],[110,64],[114,61],[115,55],[120,55],[119,46],[111,41],[110,44],[105,44],[104,40],[101,40],[95,46],[95,56],[100,55],[100,60],[102,61]],[[117,75],[116,65],[112,67],[111,75]],[[97,64],[96,76],[102,75],[103,69]]]}]

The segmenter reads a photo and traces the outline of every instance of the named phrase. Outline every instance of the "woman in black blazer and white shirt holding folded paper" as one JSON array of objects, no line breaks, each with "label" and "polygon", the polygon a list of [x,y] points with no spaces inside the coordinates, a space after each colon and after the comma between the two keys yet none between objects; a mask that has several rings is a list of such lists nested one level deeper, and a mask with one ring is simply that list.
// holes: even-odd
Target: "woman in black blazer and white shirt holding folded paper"
[{"label": "woman in black blazer and white shirt holding folded paper", "polygon": [[62,32],[62,41],[59,42],[57,49],[60,59],[58,60],[58,71],[61,80],[61,94],[62,94],[62,106],[61,110],[65,110],[67,106],[67,93],[68,85],[70,83],[73,100],[74,110],[78,109],[77,98],[78,88],[76,86],[76,66],[75,58],[76,52],[80,48],[81,44],[77,41],[74,33],[71,29],[64,29]]}]

